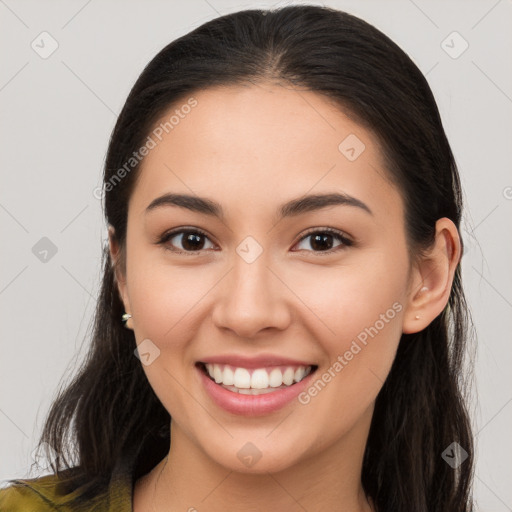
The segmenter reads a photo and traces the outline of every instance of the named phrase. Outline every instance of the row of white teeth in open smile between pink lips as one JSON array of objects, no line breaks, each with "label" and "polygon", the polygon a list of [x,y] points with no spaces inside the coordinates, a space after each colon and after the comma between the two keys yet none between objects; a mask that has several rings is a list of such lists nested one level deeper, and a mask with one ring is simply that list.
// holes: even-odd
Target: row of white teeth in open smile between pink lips
[{"label": "row of white teeth in open smile between pink lips", "polygon": [[201,361],[196,363],[196,367],[220,387],[232,393],[253,396],[292,388],[318,369],[317,365],[244,368]]}]

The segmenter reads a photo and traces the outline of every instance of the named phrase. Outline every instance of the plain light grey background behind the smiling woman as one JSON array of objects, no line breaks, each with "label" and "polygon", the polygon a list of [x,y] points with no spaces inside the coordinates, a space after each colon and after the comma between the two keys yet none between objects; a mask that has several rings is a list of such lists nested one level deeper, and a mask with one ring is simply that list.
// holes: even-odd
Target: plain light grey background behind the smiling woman
[{"label": "plain light grey background behind the smiling woman", "polygon": [[[510,511],[512,3],[303,3],[374,24],[433,89],[466,195],[463,271],[478,335],[475,497],[482,510]],[[284,4],[0,0],[0,479],[28,474],[52,396],[87,346],[107,239],[93,190],[131,86],[157,51],[203,22]],[[31,47],[46,37],[50,48],[43,31],[58,43],[46,59]],[[445,51],[463,48],[458,36],[446,39],[454,31],[469,44],[458,58]],[[42,237],[57,247],[47,262],[32,251]]]}]

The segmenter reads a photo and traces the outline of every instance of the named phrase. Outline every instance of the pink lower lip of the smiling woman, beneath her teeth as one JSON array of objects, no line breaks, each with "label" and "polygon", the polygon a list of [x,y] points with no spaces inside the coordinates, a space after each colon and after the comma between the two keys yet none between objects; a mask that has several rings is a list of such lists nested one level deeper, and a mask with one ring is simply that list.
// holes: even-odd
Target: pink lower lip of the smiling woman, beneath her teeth
[{"label": "pink lower lip of the smiling woman, beneath her teeth", "polygon": [[210,379],[201,368],[196,366],[196,370],[199,372],[201,381],[210,398],[226,411],[240,416],[261,416],[281,409],[309,386],[313,375],[316,373],[311,372],[300,382],[272,393],[242,395],[223,388]]}]

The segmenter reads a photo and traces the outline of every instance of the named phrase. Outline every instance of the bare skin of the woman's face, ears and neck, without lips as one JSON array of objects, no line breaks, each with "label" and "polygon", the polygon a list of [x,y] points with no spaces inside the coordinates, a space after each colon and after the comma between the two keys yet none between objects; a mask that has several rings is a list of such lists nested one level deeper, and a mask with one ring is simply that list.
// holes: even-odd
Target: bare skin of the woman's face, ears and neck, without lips
[{"label": "bare skin of the woman's face, ears and neck, without lips", "polygon": [[[149,338],[160,350],[144,371],[172,417],[169,454],[136,482],[134,511],[375,510],[361,486],[374,402],[401,334],[424,329],[447,304],[457,228],[438,220],[434,245],[412,261],[404,203],[376,137],[327,98],[274,83],[193,96],[197,106],[142,162],[126,272],[116,266],[137,344]],[[365,145],[354,161],[338,148],[350,134]],[[146,213],[170,192],[216,201],[224,217],[177,206]],[[283,203],[325,193],[349,194],[371,213],[331,205],[277,220]],[[181,227],[206,232],[195,253],[187,233],[157,243]],[[322,249],[313,237],[326,227],[352,244],[333,236]],[[252,263],[236,251],[248,236],[263,250]],[[110,251],[118,262],[112,228]],[[306,360],[322,375],[394,303],[401,310],[307,404],[241,417],[213,403],[198,378],[197,361],[227,353]],[[261,452],[251,467],[237,456],[248,442]]]}]

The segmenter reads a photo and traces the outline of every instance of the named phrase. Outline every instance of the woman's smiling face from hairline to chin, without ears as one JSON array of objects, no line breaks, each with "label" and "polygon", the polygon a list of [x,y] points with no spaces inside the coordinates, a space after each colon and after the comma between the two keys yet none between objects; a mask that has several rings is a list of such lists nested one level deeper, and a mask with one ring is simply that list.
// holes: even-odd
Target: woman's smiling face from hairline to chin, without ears
[{"label": "woman's smiling face from hairline to chin, without ears", "polygon": [[[403,201],[374,135],[317,93],[193,97],[142,163],[120,291],[173,435],[226,468],[285,469],[367,434],[410,290]],[[148,209],[166,194],[209,207]]]}]

